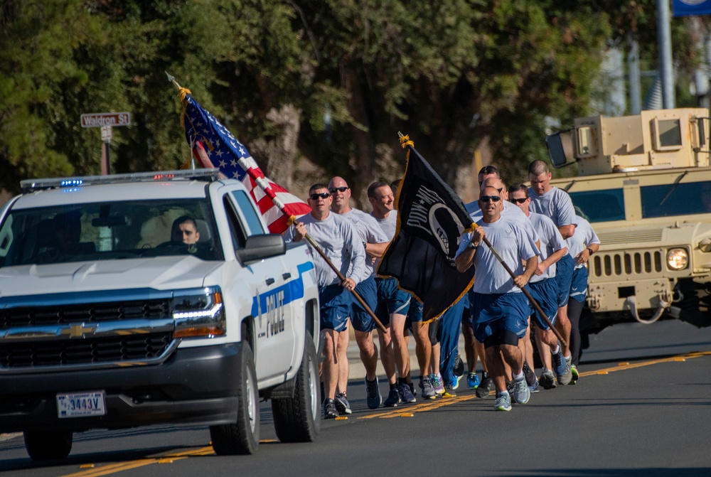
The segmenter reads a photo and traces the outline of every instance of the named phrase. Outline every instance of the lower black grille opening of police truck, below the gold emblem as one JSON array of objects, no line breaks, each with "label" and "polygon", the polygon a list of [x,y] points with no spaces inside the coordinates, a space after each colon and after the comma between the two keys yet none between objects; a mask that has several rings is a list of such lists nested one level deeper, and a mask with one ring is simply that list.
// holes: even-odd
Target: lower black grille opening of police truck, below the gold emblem
[{"label": "lower black grille opening of police truck, below the gold emblem", "polygon": [[114,338],[0,343],[0,367],[87,365],[156,358],[170,345],[172,333]]}]

